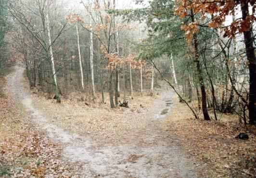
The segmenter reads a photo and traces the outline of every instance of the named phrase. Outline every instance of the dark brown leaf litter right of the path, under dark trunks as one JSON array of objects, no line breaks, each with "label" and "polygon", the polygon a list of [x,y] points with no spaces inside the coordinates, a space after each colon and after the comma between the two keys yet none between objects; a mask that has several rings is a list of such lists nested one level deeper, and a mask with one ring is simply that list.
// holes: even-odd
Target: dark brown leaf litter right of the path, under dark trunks
[{"label": "dark brown leaf litter right of the path, under dark trunks", "polygon": [[[174,113],[180,107],[174,106]],[[178,111],[177,111],[178,112]],[[184,108],[160,124],[170,134],[176,134],[181,146],[203,165],[203,177],[253,177],[256,175],[256,127],[244,126],[231,117],[223,121],[192,119]],[[230,120],[231,119],[231,120]],[[249,140],[235,137],[245,132]]]}]

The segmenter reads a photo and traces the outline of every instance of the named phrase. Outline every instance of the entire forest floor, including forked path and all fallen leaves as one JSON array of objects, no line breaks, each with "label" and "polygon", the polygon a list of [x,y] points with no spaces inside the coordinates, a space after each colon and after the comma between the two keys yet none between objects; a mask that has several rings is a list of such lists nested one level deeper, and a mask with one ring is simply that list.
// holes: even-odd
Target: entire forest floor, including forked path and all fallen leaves
[{"label": "entire forest floor, including forked path and all fallen leaves", "polygon": [[[110,109],[109,104],[92,102],[87,106],[77,99],[62,99],[61,104],[56,104],[55,100],[31,93],[24,85],[23,71],[16,67],[7,77],[8,94],[0,103],[7,108],[0,113],[5,116],[0,123],[1,130],[4,128],[0,170],[9,176],[256,175],[255,127],[232,124],[229,116],[225,122],[192,119],[190,111],[170,89],[162,89],[162,94],[153,97],[136,96],[130,100],[129,108]],[[10,111],[14,116],[9,116]],[[13,127],[13,123],[19,127]],[[235,139],[240,132],[248,133],[250,139]],[[21,139],[15,140],[15,134]],[[23,160],[27,153],[29,166],[12,161]]]}]

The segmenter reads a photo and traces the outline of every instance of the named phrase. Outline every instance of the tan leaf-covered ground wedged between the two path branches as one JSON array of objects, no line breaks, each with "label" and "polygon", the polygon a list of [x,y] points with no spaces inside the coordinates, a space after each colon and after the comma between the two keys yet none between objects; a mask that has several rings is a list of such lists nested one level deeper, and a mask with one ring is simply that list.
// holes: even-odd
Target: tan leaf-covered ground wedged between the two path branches
[{"label": "tan leaf-covered ground wedged between the two path branches", "polygon": [[[37,96],[33,105],[58,127],[81,135],[90,134],[93,138],[103,137],[103,140],[113,143],[122,143],[124,138],[129,141],[134,133],[143,130],[147,126],[147,112],[154,99],[159,97],[141,97],[138,93],[130,102],[130,108],[111,109],[108,102],[102,104],[86,101],[90,102],[90,105],[86,106],[85,101],[76,99],[81,95],[72,96],[74,97],[63,99],[61,104]],[[140,105],[143,105],[143,108]]]}]

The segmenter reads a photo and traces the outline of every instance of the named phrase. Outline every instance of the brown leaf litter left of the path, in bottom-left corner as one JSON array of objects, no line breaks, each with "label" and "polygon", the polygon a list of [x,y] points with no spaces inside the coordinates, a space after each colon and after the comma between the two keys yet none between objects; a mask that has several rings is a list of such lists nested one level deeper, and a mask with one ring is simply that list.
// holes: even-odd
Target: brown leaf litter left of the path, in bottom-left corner
[{"label": "brown leaf litter left of the path, in bottom-left corner", "polygon": [[0,177],[70,177],[76,171],[60,147],[29,123],[13,96],[0,97],[0,108]]}]

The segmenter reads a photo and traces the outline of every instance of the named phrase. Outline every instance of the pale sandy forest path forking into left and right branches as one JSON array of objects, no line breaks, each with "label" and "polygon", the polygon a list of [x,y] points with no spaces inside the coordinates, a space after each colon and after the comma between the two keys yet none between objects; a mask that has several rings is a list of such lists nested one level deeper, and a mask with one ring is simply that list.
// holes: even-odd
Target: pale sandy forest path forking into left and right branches
[{"label": "pale sandy forest path forking into left and right branches", "polygon": [[178,146],[179,140],[166,135],[157,127],[157,119],[164,118],[161,112],[170,110],[173,91],[163,93],[162,98],[155,101],[154,109],[145,113],[150,124],[141,133],[140,139],[135,139],[131,144],[102,146],[102,140],[71,134],[49,123],[32,106],[32,96],[23,86],[23,72],[23,68],[15,67],[7,89],[19,98],[31,114],[31,120],[45,130],[53,141],[63,145],[64,159],[81,166],[84,177],[198,177],[196,165]]}]

